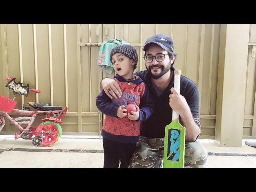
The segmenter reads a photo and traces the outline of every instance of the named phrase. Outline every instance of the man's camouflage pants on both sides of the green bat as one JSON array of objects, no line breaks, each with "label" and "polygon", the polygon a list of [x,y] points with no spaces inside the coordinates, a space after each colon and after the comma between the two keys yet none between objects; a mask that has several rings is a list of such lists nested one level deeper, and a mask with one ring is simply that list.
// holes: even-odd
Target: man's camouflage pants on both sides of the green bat
[{"label": "man's camouflage pants on both sides of the green bat", "polygon": [[[185,168],[203,168],[208,152],[200,142],[185,142]],[[140,137],[130,168],[159,168],[164,158],[164,138]]]}]

